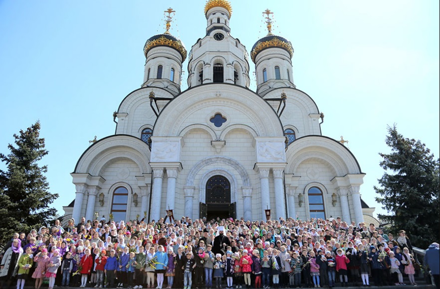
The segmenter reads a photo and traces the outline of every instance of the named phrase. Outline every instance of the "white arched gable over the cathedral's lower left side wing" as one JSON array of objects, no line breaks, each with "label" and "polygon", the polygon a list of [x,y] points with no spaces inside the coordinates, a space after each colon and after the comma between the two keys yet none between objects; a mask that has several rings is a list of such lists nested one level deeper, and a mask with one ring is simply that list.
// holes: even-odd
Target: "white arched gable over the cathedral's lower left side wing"
[{"label": "white arched gable over the cathedral's lower left side wing", "polygon": [[150,150],[141,139],[129,135],[114,135],[97,141],[79,159],[75,173],[98,176],[102,168],[114,158],[126,157],[135,162],[143,173],[150,173]]}]

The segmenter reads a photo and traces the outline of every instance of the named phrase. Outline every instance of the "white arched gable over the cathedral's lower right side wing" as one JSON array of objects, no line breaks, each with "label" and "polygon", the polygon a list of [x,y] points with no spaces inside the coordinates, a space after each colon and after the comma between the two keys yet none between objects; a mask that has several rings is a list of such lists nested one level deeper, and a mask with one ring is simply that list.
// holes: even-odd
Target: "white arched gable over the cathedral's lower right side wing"
[{"label": "white arched gable over the cathedral's lower right side wing", "polygon": [[360,174],[359,165],[350,151],[337,141],[321,136],[306,136],[296,139],[286,151],[286,172],[293,173],[301,162],[308,158],[319,158],[330,164],[337,176]]}]

